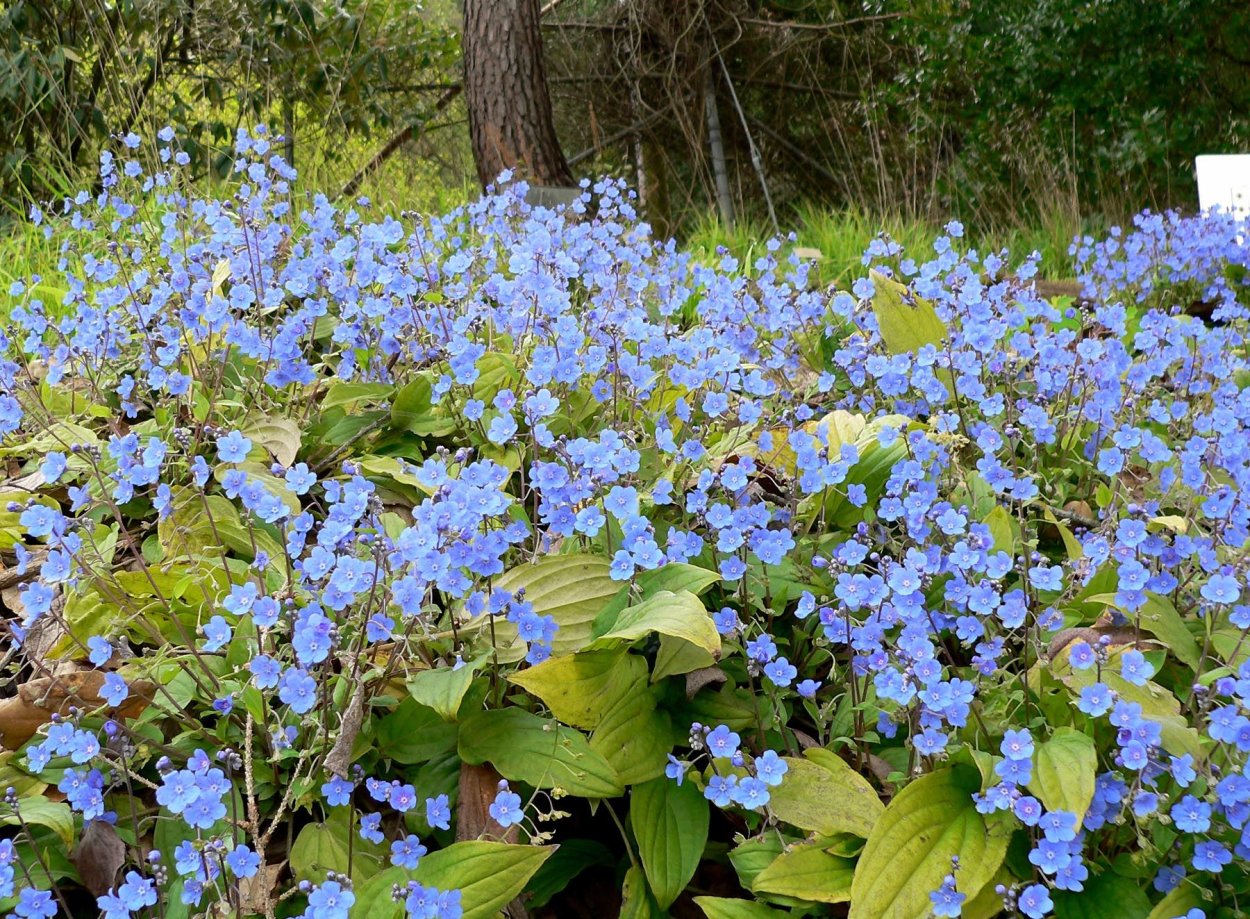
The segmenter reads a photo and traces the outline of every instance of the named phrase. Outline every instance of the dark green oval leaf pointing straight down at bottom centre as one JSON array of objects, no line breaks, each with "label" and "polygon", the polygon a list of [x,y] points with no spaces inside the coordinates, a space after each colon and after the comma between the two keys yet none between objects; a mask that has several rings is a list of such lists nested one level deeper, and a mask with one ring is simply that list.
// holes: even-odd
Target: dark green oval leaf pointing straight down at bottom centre
[{"label": "dark green oval leaf pointing straight down at bottom centre", "polygon": [[668,909],[695,875],[708,845],[708,799],[694,783],[665,776],[636,785],[630,794],[630,826],[648,884]]}]

